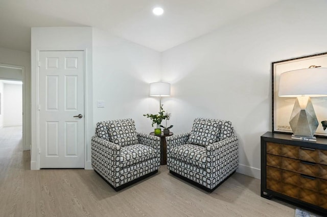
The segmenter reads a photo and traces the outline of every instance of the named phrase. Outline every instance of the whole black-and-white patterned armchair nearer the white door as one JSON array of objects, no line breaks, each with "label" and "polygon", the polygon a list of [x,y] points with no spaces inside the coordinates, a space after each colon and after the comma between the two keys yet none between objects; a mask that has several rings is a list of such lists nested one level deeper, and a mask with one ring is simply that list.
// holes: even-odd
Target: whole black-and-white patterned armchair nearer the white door
[{"label": "whole black-and-white patterned armchair nearer the white door", "polygon": [[91,159],[93,169],[119,191],[158,172],[160,138],[137,133],[132,119],[99,122]]}]

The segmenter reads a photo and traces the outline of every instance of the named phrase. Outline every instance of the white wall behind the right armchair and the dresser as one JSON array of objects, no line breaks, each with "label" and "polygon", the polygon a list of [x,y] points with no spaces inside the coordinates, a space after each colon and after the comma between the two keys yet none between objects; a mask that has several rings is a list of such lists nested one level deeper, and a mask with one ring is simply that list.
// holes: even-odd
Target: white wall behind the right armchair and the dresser
[{"label": "white wall behind the right armchair and the dresser", "polygon": [[327,2],[289,0],[162,52],[172,131],[196,117],[230,120],[239,172],[260,178],[260,136],[271,131],[271,62],[327,51]]}]

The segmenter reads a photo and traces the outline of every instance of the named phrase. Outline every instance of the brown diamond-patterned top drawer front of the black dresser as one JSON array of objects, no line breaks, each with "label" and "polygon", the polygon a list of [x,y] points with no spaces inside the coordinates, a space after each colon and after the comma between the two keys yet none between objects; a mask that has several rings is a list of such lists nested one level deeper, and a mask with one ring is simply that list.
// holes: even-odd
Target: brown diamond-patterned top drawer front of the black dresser
[{"label": "brown diamond-patterned top drawer front of the black dresser", "polygon": [[268,154],[327,165],[327,150],[319,150],[271,142],[266,143],[266,149]]}]

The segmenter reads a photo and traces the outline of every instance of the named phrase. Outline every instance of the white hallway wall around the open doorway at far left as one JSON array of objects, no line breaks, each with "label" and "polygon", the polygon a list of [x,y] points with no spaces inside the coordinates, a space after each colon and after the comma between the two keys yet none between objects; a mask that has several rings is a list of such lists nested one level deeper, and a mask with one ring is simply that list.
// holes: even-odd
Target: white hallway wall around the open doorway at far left
[{"label": "white hallway wall around the open doorway at far left", "polygon": [[[24,70],[23,88],[25,89],[25,147],[31,146],[31,55],[29,52],[0,47],[0,63],[5,65],[20,66]],[[23,102],[24,103],[24,102]]]}]

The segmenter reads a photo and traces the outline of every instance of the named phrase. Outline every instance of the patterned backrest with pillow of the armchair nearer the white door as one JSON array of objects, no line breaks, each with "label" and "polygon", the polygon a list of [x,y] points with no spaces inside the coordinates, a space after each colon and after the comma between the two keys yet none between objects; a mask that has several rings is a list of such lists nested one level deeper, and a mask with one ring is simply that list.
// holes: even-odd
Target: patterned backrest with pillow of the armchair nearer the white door
[{"label": "patterned backrest with pillow of the armchair nearer the white door", "polygon": [[135,122],[132,119],[99,122],[97,135],[121,146],[138,143]]}]

